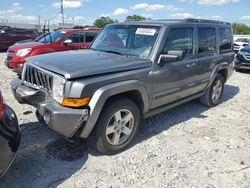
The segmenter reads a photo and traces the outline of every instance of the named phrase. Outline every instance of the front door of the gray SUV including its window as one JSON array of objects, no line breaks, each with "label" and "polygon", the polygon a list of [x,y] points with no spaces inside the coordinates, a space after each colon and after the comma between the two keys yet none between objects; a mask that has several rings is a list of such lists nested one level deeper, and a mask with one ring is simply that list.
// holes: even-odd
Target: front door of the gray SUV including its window
[{"label": "front door of the gray SUV including its window", "polygon": [[181,60],[163,65],[154,63],[152,108],[179,100],[193,93],[196,58],[194,27],[188,25],[170,28],[161,54],[183,51]]}]

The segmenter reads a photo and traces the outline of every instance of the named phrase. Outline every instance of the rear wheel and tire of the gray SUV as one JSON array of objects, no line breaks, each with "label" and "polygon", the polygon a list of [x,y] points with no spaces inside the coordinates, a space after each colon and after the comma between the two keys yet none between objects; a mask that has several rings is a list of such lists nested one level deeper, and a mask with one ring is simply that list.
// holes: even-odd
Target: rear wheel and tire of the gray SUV
[{"label": "rear wheel and tire of the gray SUV", "polygon": [[218,105],[224,91],[224,84],[224,77],[221,74],[218,74],[212,85],[206,90],[205,94],[200,97],[200,102],[208,107],[214,107]]}]

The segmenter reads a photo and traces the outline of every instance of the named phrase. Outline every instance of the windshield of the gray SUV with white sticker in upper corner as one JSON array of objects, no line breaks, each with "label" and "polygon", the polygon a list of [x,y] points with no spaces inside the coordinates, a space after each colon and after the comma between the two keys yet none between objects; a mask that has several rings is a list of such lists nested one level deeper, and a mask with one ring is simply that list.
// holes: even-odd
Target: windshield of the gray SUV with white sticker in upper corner
[{"label": "windshield of the gray SUV with white sticker in upper corner", "polygon": [[159,30],[159,26],[109,25],[97,36],[91,49],[148,58]]}]

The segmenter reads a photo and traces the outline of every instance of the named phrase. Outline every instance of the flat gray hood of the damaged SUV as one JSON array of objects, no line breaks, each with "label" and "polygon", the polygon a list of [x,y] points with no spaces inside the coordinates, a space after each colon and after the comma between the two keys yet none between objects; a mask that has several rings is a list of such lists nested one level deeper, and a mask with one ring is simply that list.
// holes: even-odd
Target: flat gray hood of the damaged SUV
[{"label": "flat gray hood of the damaged SUV", "polygon": [[27,62],[67,79],[150,67],[149,59],[94,51],[66,51],[29,57]]}]

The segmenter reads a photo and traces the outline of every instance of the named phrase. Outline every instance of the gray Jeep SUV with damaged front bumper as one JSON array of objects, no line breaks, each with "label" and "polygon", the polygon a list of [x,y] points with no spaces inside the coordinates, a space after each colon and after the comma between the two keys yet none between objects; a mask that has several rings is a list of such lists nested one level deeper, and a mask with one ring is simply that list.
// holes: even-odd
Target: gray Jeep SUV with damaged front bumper
[{"label": "gray Jeep SUV with damaged front bumper", "polygon": [[11,88],[54,131],[68,139],[91,135],[111,154],[128,146],[141,118],[196,98],[219,104],[233,59],[229,23],[118,23],[106,26],[90,50],[28,58]]}]

